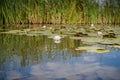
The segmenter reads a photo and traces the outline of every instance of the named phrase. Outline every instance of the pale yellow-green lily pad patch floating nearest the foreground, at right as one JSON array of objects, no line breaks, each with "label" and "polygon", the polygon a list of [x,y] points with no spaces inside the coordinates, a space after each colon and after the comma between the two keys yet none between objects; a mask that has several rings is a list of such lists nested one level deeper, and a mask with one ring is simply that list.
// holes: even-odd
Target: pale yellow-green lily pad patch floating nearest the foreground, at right
[{"label": "pale yellow-green lily pad patch floating nearest the foreground, at right", "polygon": [[96,53],[107,53],[107,52],[109,52],[109,50],[106,50],[105,48],[95,47],[95,46],[78,47],[75,50],[85,50],[87,52],[96,52]]}]

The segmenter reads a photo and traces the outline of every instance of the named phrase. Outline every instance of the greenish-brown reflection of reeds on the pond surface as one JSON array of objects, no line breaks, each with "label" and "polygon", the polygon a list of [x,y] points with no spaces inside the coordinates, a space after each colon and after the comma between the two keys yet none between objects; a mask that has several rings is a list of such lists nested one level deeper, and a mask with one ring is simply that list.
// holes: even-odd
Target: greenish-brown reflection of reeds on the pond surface
[{"label": "greenish-brown reflection of reeds on the pond surface", "polygon": [[[76,43],[77,44],[77,43]],[[81,53],[74,52],[74,41],[65,38],[60,44],[55,44],[53,40],[46,36],[27,37],[10,34],[1,34],[0,37],[0,62],[5,63],[9,59],[14,59],[14,55],[20,58],[22,66],[38,64],[45,59],[63,60],[80,56]],[[14,61],[14,60],[13,60]]]}]

